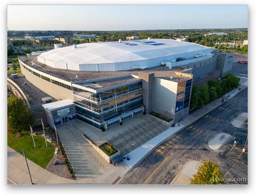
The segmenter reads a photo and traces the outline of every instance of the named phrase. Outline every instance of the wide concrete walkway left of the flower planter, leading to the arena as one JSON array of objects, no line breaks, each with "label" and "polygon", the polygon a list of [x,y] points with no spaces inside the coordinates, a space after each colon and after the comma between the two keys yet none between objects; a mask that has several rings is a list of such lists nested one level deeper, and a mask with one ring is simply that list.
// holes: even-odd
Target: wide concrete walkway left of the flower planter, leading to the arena
[{"label": "wide concrete walkway left of the flower planter, leading to the arena", "polygon": [[79,184],[112,184],[130,169],[124,162],[109,164],[72,125],[65,127],[57,132]]}]

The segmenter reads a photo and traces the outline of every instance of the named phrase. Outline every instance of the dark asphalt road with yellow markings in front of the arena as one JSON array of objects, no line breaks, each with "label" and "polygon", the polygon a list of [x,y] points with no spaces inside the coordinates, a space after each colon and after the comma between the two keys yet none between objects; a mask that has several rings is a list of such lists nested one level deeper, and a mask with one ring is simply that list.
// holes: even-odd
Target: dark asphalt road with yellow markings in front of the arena
[{"label": "dark asphalt road with yellow markings in front of the arena", "polygon": [[[242,153],[247,138],[247,125],[236,128],[231,121],[243,112],[248,112],[246,88],[238,95],[222,104],[201,119],[195,121],[193,128],[185,128],[163,142],[128,173],[119,184],[164,184],[164,166],[166,166],[165,184],[170,184],[176,174],[190,160],[211,161],[220,165],[226,178],[246,178],[242,182],[229,182],[229,184],[247,184],[247,153]],[[225,132],[232,138],[218,152],[210,150],[208,141],[217,133]],[[227,157],[237,141],[237,155]],[[169,145],[169,146],[168,146]],[[240,155],[242,153],[242,155]]]}]

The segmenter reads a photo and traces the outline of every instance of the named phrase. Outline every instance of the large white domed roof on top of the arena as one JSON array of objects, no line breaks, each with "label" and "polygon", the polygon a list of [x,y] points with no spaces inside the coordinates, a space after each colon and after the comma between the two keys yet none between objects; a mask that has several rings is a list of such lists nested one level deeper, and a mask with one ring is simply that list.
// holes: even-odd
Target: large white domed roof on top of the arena
[{"label": "large white domed roof on top of the arena", "polygon": [[[131,70],[132,65],[156,66],[145,60],[173,60],[177,57],[193,58],[194,54],[210,53],[213,49],[195,43],[181,42],[171,39],[151,39],[119,42],[84,43],[52,49],[38,56],[38,61],[55,68],[69,70],[99,70],[95,65],[113,66],[124,63],[111,70]],[[166,58],[167,57],[167,58]],[[165,59],[166,58],[166,59]],[[141,61],[142,60],[142,61]],[[144,60],[144,62],[143,62]],[[157,65],[159,65],[159,60]],[[134,62],[127,65],[127,62]],[[137,63],[136,61],[140,61]],[[94,65],[89,67],[90,65]],[[120,64],[119,64],[120,65]],[[106,71],[106,70],[105,70]]]}]

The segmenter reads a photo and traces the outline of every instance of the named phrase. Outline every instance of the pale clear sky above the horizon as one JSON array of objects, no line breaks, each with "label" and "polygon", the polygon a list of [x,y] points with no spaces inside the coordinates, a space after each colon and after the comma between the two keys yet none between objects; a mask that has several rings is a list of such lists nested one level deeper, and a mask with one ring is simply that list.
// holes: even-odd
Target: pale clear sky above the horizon
[{"label": "pale clear sky above the horizon", "polygon": [[8,5],[9,30],[247,28],[247,5]]}]

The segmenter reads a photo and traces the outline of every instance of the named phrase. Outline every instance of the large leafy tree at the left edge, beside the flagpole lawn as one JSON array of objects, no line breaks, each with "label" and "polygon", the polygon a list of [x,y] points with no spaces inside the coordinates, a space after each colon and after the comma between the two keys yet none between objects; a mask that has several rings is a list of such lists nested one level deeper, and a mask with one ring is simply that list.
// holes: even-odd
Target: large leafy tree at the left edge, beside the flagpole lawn
[{"label": "large leafy tree at the left edge, beside the flagpole lawn", "polygon": [[10,134],[22,133],[32,124],[32,114],[22,98],[11,96],[7,100],[7,130]]}]

